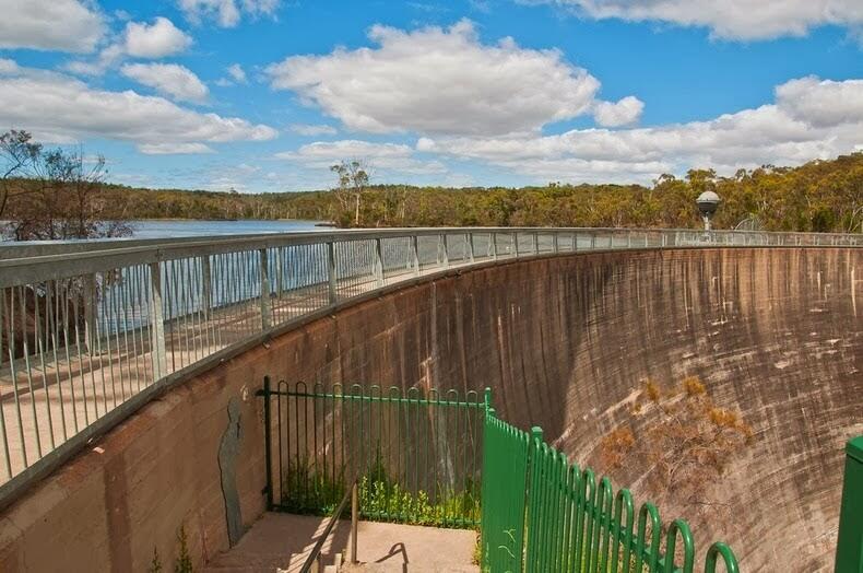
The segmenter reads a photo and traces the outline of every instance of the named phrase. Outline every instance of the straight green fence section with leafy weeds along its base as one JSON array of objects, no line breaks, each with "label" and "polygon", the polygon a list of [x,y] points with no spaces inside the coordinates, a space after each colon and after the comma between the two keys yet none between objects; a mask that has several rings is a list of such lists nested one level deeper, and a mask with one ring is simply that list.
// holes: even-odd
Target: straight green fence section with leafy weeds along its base
[{"label": "straight green fence section with leafy weeds along its base", "polygon": [[477,393],[307,385],[269,378],[271,510],[327,514],[359,481],[375,521],[476,527],[484,401]]}]

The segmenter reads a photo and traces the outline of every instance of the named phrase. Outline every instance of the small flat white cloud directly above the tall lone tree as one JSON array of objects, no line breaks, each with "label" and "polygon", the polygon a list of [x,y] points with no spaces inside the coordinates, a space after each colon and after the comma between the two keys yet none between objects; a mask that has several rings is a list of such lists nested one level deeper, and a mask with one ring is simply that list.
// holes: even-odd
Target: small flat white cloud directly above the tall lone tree
[{"label": "small flat white cloud directly above the tall lone tree", "polygon": [[373,169],[385,169],[410,174],[446,173],[439,161],[424,161],[414,156],[414,150],[401,143],[371,143],[353,139],[342,141],[317,141],[303,145],[297,151],[276,153],[276,157],[299,163],[306,167],[327,168],[340,161],[360,160]]}]

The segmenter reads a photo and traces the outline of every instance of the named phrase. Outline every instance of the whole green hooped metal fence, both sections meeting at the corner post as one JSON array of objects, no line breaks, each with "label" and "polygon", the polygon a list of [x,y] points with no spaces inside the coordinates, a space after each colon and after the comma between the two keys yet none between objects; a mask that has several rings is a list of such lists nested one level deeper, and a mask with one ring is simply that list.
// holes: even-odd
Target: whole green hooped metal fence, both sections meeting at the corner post
[{"label": "whole green hooped metal fence, both sections meeting at the corner post", "polygon": [[[267,378],[258,394],[271,510],[329,513],[356,476],[365,518],[478,526],[484,571],[694,571],[686,522],[663,524],[651,503],[636,513],[628,490],[615,493],[607,478],[569,464],[541,429],[500,420],[488,389],[481,399],[358,384],[273,388]],[[717,542],[704,571],[720,562],[737,573],[731,549]]]}]

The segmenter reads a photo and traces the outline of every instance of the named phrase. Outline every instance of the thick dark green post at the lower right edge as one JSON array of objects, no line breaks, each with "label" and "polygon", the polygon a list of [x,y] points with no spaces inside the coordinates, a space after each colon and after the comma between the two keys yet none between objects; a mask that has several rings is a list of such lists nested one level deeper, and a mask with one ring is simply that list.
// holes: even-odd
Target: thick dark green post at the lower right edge
[{"label": "thick dark green post at the lower right edge", "polygon": [[849,440],[846,454],[836,573],[863,573],[863,435]]}]

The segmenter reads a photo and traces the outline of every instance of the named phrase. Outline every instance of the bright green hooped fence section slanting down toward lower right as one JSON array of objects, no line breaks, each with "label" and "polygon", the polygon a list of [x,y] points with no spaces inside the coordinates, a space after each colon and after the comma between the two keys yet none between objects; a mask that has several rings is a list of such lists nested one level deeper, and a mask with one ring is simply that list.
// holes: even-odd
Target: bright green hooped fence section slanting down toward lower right
[{"label": "bright green hooped fence section slanting down toward lower right", "polygon": [[[483,569],[492,572],[683,572],[694,570],[689,526],[675,519],[665,528],[659,510],[635,513],[628,490],[616,494],[607,478],[569,464],[542,438],[499,420],[487,409],[483,471]],[[713,543],[705,572],[719,561],[737,572],[728,546]]]}]

